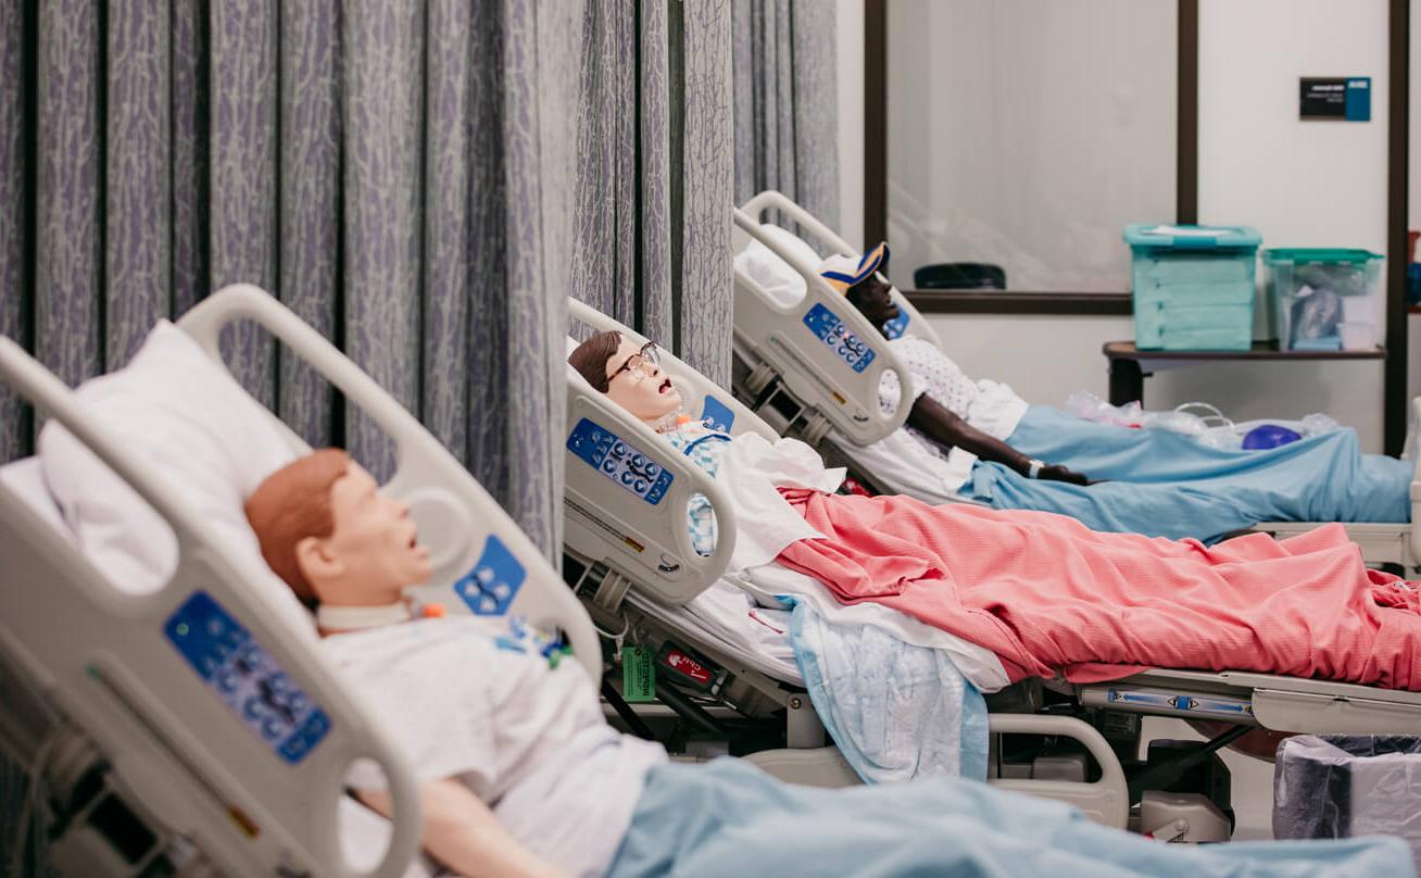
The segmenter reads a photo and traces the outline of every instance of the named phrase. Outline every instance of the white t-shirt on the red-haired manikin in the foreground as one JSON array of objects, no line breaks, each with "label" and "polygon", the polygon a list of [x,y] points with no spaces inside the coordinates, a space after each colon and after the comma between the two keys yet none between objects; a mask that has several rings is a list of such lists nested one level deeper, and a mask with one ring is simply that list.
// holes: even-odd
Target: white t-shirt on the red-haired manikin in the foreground
[{"label": "white t-shirt on the red-haired manikin in the foreground", "polygon": [[[323,652],[388,723],[421,781],[458,777],[529,851],[601,875],[659,744],[607,725],[581,665],[499,648],[490,622],[421,619],[328,636]],[[351,773],[382,788],[378,771]]]}]

